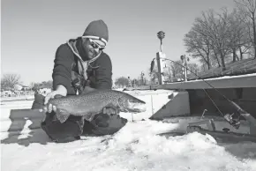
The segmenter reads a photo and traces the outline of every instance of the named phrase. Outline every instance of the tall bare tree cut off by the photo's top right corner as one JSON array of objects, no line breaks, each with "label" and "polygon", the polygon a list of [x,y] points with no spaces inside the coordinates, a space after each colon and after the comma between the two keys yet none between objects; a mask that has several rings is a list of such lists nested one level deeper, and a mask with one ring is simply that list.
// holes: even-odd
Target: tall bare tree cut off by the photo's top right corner
[{"label": "tall bare tree cut off by the photo's top right corner", "polygon": [[252,41],[254,48],[254,58],[256,58],[256,24],[255,24],[255,12],[256,12],[256,0],[234,0],[237,4],[237,9],[243,16],[244,22],[247,26],[247,33]]}]

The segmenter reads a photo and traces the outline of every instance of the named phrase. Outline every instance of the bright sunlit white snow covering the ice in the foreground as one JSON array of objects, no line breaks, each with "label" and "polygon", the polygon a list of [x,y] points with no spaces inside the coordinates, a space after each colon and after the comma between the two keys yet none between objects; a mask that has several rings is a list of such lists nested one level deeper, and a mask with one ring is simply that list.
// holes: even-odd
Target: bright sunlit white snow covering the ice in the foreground
[{"label": "bright sunlit white snow covering the ice in the foreground", "polygon": [[[215,138],[197,132],[169,138],[158,136],[177,129],[178,123],[148,120],[152,106],[150,96],[146,97],[147,114],[134,115],[135,122],[127,123],[113,136],[82,137],[75,142],[56,144],[41,129],[1,132],[1,168],[3,171],[256,170],[255,143],[218,144]],[[154,100],[154,105],[157,101],[161,100]],[[1,120],[11,108],[31,105],[32,101],[4,102]],[[161,104],[158,106],[161,108]],[[154,106],[154,110],[157,108]],[[130,115],[122,116],[131,121]],[[25,127],[29,124],[27,120]]]}]

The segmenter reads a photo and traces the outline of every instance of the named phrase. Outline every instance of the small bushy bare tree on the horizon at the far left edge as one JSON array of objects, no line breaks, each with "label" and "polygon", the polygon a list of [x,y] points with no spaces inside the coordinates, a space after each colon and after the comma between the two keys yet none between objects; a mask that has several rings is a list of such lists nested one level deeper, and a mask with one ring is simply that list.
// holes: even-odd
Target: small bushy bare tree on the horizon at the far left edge
[{"label": "small bushy bare tree on the horizon at the far left edge", "polygon": [[4,74],[1,78],[1,89],[13,90],[15,85],[21,84],[18,74]]}]

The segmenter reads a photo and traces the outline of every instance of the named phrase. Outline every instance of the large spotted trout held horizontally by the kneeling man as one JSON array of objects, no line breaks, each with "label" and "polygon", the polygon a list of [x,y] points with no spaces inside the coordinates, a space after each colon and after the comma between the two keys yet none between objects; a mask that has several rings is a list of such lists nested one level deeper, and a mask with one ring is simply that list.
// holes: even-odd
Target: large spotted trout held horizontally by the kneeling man
[{"label": "large spotted trout held horizontally by the kneeling man", "polygon": [[146,111],[145,101],[116,90],[96,90],[85,94],[69,95],[50,99],[49,103],[56,106],[56,118],[60,123],[64,123],[70,115],[80,115],[83,119],[91,121],[94,115],[102,113],[103,108],[109,106],[125,113]]}]

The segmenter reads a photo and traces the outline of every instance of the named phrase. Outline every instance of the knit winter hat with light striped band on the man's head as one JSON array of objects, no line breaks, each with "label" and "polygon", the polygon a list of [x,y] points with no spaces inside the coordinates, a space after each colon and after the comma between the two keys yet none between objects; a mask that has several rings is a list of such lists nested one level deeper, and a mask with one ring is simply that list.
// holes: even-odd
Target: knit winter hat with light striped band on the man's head
[{"label": "knit winter hat with light striped band on the man's head", "polygon": [[94,20],[87,26],[86,31],[83,33],[84,38],[92,38],[101,40],[107,45],[109,41],[109,29],[102,19]]}]

